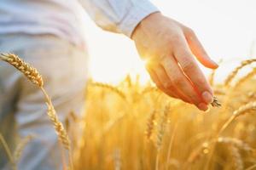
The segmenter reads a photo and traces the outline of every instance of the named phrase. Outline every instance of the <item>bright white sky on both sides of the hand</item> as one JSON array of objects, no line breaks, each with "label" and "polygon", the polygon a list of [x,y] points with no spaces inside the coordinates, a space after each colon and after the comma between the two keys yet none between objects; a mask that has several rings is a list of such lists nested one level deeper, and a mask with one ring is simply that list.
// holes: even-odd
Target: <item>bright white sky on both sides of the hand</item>
[{"label": "bright white sky on both sides of the hand", "polygon": [[[221,77],[241,59],[256,57],[255,0],[153,0],[163,14],[192,28],[212,59],[224,59]],[[90,73],[100,82],[119,82],[127,73],[148,75],[128,38],[102,31],[86,17]],[[206,74],[209,72],[204,69]]]}]

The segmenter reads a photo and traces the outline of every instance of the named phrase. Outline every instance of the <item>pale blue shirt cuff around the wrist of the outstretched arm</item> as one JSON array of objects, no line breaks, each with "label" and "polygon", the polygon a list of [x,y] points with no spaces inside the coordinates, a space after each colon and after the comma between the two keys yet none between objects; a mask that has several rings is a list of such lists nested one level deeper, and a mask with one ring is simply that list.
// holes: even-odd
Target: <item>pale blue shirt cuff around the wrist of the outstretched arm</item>
[{"label": "pale blue shirt cuff around the wrist of the outstretched arm", "polygon": [[138,0],[133,4],[129,13],[119,24],[119,30],[127,37],[131,37],[134,29],[144,18],[146,18],[149,14],[153,14],[158,11],[160,10],[148,0]]}]

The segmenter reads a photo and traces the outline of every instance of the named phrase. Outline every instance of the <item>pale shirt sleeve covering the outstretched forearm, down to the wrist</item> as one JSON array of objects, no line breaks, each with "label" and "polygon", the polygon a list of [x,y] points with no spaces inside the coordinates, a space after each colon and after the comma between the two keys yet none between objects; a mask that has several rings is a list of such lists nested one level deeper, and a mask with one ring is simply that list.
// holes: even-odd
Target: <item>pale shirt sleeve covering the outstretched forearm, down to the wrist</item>
[{"label": "pale shirt sleeve covering the outstretched forearm, down to the wrist", "polygon": [[148,0],[80,0],[97,26],[131,37],[136,26],[156,11]]}]

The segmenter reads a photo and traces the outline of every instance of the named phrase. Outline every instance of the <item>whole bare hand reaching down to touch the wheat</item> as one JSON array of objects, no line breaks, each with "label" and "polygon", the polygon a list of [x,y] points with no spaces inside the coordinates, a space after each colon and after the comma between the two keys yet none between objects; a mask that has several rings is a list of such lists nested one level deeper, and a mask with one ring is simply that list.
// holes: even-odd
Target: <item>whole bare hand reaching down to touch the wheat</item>
[{"label": "whole bare hand reaching down to touch the wheat", "polygon": [[154,13],[141,21],[131,38],[160,90],[207,111],[213,92],[195,58],[211,69],[218,65],[209,58],[194,31]]}]

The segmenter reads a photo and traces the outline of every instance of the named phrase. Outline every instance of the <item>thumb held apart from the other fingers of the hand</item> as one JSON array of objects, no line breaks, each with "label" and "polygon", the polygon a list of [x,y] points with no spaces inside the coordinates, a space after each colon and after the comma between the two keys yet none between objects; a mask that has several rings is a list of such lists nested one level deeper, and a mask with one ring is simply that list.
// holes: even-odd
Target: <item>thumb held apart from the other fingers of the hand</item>
[{"label": "thumb held apart from the other fingers of the hand", "polygon": [[194,31],[188,29],[188,31],[184,31],[184,35],[186,37],[187,42],[189,43],[189,48],[192,53],[195,54],[195,57],[201,62],[202,65],[210,69],[218,68],[218,64],[215,63],[207,54],[206,50],[201,45],[201,42],[195,36]]}]

